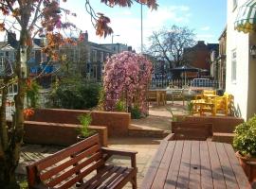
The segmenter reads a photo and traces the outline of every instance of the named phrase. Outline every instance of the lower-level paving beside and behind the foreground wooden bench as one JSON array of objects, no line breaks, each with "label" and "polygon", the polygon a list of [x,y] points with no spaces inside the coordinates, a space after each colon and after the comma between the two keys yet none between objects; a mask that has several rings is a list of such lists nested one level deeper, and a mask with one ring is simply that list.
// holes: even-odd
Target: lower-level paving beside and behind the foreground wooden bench
[{"label": "lower-level paving beside and behind the foreground wooden bench", "polygon": [[[145,173],[152,162],[155,151],[159,145],[159,139],[154,138],[111,138],[109,139],[109,147],[117,149],[127,149],[137,151],[137,184],[140,186]],[[16,173],[19,175],[26,175],[26,165],[40,160],[54,152],[61,150],[61,146],[41,146],[41,145],[26,145],[22,147],[22,154],[19,166]],[[116,159],[117,158],[117,159]],[[110,163],[130,166],[131,162],[127,158],[117,157],[111,159]],[[132,188],[128,183],[124,188]]]}]

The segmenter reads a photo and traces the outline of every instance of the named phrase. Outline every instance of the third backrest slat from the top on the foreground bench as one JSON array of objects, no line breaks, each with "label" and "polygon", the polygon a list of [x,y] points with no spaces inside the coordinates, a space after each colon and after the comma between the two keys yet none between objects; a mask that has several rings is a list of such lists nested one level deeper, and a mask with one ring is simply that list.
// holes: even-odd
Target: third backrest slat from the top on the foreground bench
[{"label": "third backrest slat from the top on the foreground bench", "polygon": [[[77,165],[74,166],[73,168],[71,168],[71,169],[65,171],[64,174],[62,174],[62,175],[60,175],[60,176],[54,178],[53,180],[50,180],[49,182],[47,182],[46,185],[48,185],[48,186],[50,186],[50,187],[53,187],[53,186],[59,184],[61,181],[68,179],[68,178],[71,177],[73,174],[76,174],[76,173],[77,173],[78,171],[80,171],[83,167],[87,166],[87,165],[90,164],[90,163],[94,163],[94,162],[97,162],[97,163],[91,165],[91,166],[88,168],[88,170],[90,169],[90,170],[93,171],[93,170],[97,169],[99,166],[101,166],[101,164],[104,163],[104,162],[102,161],[102,159],[101,159],[101,153],[96,153],[96,154],[94,154],[93,156],[90,157],[90,159],[85,160],[84,162],[77,164]],[[75,178],[81,177],[81,175],[82,175],[82,174],[78,175],[78,176],[75,177]],[[86,175],[84,175],[83,177],[85,177],[85,176],[86,176]],[[82,178],[83,178],[83,177],[82,177]],[[74,178],[74,179],[75,179],[75,178]],[[81,179],[82,179],[82,178],[81,178]],[[40,178],[40,179],[41,179],[41,178]],[[74,179],[71,179],[71,180],[74,180]],[[81,179],[80,179],[80,180],[81,180]],[[41,180],[42,180],[42,179],[41,179]],[[69,180],[69,181],[70,181],[70,180]],[[78,180],[77,180],[77,181],[78,181]],[[76,183],[77,181],[74,181],[73,184]]]}]

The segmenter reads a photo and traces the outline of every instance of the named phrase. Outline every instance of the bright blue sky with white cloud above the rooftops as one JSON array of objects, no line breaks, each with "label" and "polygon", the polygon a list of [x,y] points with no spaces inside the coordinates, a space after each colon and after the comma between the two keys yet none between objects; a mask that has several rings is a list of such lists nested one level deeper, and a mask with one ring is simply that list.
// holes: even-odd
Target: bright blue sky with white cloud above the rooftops
[{"label": "bright blue sky with white cloud above the rooftops", "polygon": [[[100,0],[91,0],[92,7],[111,18],[114,29],[114,43],[127,43],[140,51],[140,6],[134,4],[132,9],[108,8]],[[227,1],[225,0],[159,0],[159,8],[155,11],[143,8],[143,42],[148,45],[148,37],[153,31],[163,26],[188,26],[194,30],[196,40],[206,43],[217,43],[226,26]],[[62,7],[78,14],[72,19],[82,30],[88,30],[89,40],[97,43],[111,43],[95,35],[90,19],[85,12],[81,0],[68,0]]]}]

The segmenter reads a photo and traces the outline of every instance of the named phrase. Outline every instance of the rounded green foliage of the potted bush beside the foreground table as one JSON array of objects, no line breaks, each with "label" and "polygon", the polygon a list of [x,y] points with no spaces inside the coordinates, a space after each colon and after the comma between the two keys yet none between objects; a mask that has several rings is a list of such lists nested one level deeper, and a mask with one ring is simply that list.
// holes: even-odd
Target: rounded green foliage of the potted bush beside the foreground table
[{"label": "rounded green foliage of the potted bush beside the foreground table", "polygon": [[234,131],[233,146],[241,155],[256,157],[256,115],[238,125]]}]

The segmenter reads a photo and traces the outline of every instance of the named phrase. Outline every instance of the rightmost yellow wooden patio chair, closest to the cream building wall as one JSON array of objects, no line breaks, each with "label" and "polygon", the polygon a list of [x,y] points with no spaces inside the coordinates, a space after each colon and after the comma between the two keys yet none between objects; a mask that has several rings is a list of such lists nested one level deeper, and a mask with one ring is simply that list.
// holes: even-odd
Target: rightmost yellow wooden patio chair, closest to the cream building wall
[{"label": "rightmost yellow wooden patio chair, closest to the cream building wall", "polygon": [[229,103],[228,103],[227,95],[215,97],[212,99],[212,102],[214,104],[213,115],[216,115],[216,113],[221,112],[221,113],[224,113],[226,116],[228,116]]}]

